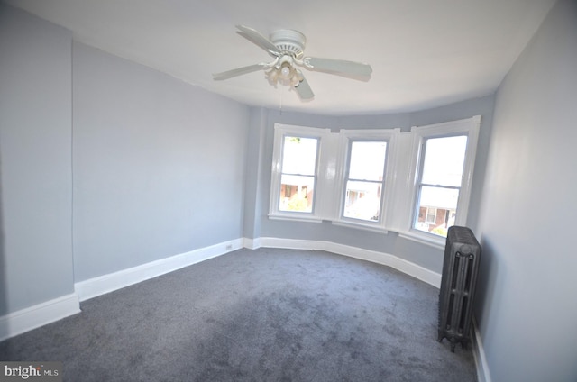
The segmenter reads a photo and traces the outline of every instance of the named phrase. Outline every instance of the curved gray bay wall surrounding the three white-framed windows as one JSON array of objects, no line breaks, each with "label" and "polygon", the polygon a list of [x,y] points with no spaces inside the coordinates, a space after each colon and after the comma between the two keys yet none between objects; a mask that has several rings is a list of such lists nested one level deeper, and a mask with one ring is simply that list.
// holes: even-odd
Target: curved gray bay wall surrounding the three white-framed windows
[{"label": "curved gray bay wall surrounding the three white-framed windows", "polygon": [[327,222],[320,224],[295,223],[268,219],[272,141],[274,137],[273,126],[274,123],[288,123],[309,127],[330,128],[333,131],[338,131],[339,129],[400,128],[401,131],[408,132],[413,125],[443,123],[481,114],[481,132],[474,169],[475,180],[473,182],[472,205],[470,216],[468,217],[468,222],[470,222],[468,225],[470,225],[474,231],[474,229],[476,229],[479,204],[481,201],[480,190],[485,174],[492,112],[493,96],[485,96],[453,105],[407,114],[324,116],[279,112],[276,110],[268,110],[266,113],[263,113],[261,109],[253,108],[251,124],[252,140],[261,139],[265,141],[265,144],[258,145],[252,142],[252,150],[260,150],[261,155],[252,156],[252,159],[249,159],[248,163],[252,163],[252,168],[259,168],[260,172],[252,171],[252,173],[249,174],[247,178],[248,184],[257,184],[258,186],[256,190],[247,190],[247,194],[258,192],[258,197],[255,202],[256,212],[254,219],[259,223],[250,225],[251,228],[257,227],[258,229],[256,230],[247,230],[247,226],[245,225],[245,236],[333,241],[366,250],[390,253],[435,272],[441,272],[443,268],[442,250],[437,250],[415,241],[399,238],[396,232],[382,234],[335,226]]}]

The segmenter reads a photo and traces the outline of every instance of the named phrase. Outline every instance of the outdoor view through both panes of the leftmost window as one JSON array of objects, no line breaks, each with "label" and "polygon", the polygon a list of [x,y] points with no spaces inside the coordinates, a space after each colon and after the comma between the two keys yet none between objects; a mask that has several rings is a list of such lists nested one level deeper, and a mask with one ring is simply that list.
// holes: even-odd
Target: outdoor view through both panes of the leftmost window
[{"label": "outdoor view through both panes of the leftmost window", "polygon": [[313,211],[317,148],[316,138],[284,137],[280,170],[280,211]]}]

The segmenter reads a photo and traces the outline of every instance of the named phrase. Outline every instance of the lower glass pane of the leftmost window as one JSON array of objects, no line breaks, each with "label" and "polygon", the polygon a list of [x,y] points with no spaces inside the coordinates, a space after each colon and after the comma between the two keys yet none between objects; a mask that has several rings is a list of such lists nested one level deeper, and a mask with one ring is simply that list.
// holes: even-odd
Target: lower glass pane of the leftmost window
[{"label": "lower glass pane of the leftmost window", "polygon": [[315,177],[282,175],[280,177],[280,211],[310,213],[313,211]]}]

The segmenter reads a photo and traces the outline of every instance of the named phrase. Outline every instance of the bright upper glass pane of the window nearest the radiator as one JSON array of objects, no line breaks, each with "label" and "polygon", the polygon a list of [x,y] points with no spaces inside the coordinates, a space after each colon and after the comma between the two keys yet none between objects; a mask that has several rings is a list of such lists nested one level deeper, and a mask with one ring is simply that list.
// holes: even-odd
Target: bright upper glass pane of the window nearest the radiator
[{"label": "bright upper glass pane of the window nearest the radiator", "polygon": [[422,183],[461,186],[467,136],[426,140]]}]

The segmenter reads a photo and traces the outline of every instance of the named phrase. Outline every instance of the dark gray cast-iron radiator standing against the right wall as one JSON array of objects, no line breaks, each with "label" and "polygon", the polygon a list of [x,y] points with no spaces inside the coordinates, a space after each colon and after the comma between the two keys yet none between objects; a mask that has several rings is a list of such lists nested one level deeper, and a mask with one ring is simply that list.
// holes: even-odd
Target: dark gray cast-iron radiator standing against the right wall
[{"label": "dark gray cast-iron radiator standing against the right wall", "polygon": [[457,343],[467,349],[471,341],[472,305],[481,258],[481,246],[467,227],[453,226],[447,232],[443,275],[439,294],[437,341]]}]

